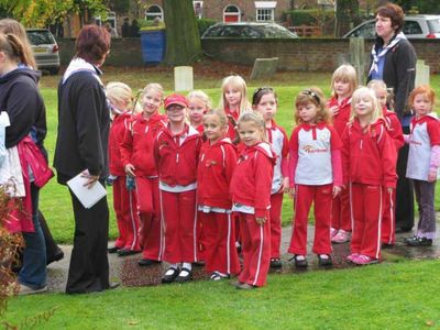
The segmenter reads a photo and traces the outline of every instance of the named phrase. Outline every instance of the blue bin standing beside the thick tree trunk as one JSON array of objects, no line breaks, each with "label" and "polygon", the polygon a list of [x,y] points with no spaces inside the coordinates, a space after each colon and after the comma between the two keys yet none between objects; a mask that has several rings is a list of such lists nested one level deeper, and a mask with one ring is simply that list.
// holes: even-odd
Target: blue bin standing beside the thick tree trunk
[{"label": "blue bin standing beside the thick tree trunk", "polygon": [[142,58],[145,64],[158,64],[165,57],[165,30],[140,31]]}]

